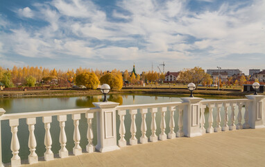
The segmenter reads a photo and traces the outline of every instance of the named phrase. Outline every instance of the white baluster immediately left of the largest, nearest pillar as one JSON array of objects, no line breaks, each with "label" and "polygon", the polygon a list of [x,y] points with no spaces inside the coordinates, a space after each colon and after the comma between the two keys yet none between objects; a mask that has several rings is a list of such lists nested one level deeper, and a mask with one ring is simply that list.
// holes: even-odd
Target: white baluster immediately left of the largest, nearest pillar
[{"label": "white baluster immediately left of the largest, nearest pillar", "polygon": [[94,113],[85,113],[85,118],[87,118],[87,152],[94,152],[95,147],[93,145],[93,129],[92,129],[92,119],[94,118]]}]

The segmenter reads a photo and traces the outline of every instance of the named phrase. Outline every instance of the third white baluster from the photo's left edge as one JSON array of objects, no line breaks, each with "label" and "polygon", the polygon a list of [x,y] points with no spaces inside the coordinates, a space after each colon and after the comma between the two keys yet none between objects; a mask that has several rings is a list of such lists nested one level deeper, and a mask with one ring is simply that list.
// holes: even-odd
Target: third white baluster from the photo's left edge
[{"label": "third white baluster from the photo's left edge", "polygon": [[51,144],[53,143],[51,140],[51,116],[46,116],[42,118],[42,122],[44,122],[45,127],[45,136],[44,136],[44,145],[46,146],[46,152],[44,152],[45,161],[53,160],[53,152],[51,151]]}]

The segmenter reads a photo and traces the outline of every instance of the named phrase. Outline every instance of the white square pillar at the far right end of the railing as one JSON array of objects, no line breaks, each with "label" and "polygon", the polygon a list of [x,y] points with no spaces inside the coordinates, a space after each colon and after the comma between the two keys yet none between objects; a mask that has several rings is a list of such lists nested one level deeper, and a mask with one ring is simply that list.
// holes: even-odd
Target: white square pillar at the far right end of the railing
[{"label": "white square pillar at the far right end of the railing", "polygon": [[248,106],[250,128],[265,128],[264,95],[246,95],[250,102]]}]

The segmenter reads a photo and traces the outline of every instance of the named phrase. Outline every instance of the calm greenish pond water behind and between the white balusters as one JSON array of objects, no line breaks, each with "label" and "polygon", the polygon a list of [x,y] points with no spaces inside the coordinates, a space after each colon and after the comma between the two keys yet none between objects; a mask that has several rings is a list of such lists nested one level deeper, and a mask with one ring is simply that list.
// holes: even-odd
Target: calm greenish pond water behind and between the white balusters
[{"label": "calm greenish pond water behind and between the white balusters", "polygon": [[[0,108],[6,110],[6,113],[24,113],[24,112],[33,112],[33,111],[51,111],[51,110],[60,110],[60,109],[78,109],[84,107],[94,107],[92,102],[99,102],[103,100],[102,95],[94,95],[94,96],[85,96],[85,97],[28,97],[28,98],[1,98],[0,99]],[[108,95],[108,100],[112,102],[119,102],[121,105],[127,104],[148,104],[148,103],[158,103],[158,102],[181,102],[180,97],[166,97],[166,96],[157,96],[157,95]],[[231,111],[228,112],[230,117]],[[237,116],[238,110],[235,110],[235,114]],[[242,109],[242,114],[244,113],[244,109]],[[214,125],[216,125],[215,117],[216,111],[213,113],[214,115]],[[221,125],[223,125],[223,116],[224,111],[221,109]],[[160,134],[160,113],[157,113],[156,122],[157,122],[157,136]],[[208,112],[205,112],[205,122],[208,119]],[[166,134],[169,133],[169,111],[166,111]],[[175,132],[178,131],[178,112],[175,112],[174,120],[176,122],[176,127],[174,129]],[[125,126],[126,126],[126,141],[130,138],[130,114],[127,111],[125,116]],[[137,125],[137,133],[136,137],[139,139],[141,136],[141,114],[137,113],[136,115],[136,125]],[[235,121],[237,123],[237,121]],[[228,122],[230,123],[230,121]],[[119,140],[119,116],[117,115],[117,140]],[[243,124],[243,120],[242,120]],[[146,136],[151,135],[151,113],[148,112],[146,114],[146,125],[147,132]],[[205,123],[205,129],[207,127],[207,123]],[[94,140],[93,143],[96,145],[96,114],[94,115],[92,128],[94,131]],[[87,145],[87,119],[84,114],[81,114],[80,119],[80,146],[85,150],[85,145]],[[12,138],[12,134],[10,131],[10,126],[8,120],[1,121],[1,140],[2,140],[2,158],[3,163],[10,162],[12,157],[12,151],[10,150],[10,141]],[[71,115],[67,115],[67,122],[65,125],[65,131],[67,134],[67,150],[69,153],[74,148],[74,122],[71,119]],[[53,116],[53,122],[51,122],[51,137],[53,140],[52,148],[53,154],[58,154],[60,150],[59,143],[59,135],[60,135],[60,126],[56,116]],[[28,159],[29,149],[28,149],[28,125],[26,125],[26,119],[19,120],[18,127],[18,138],[19,138],[19,156],[21,159]],[[37,118],[37,123],[35,125],[35,137],[37,140],[37,148],[36,153],[39,157],[44,156],[45,145],[44,145],[44,123],[42,122],[42,118]],[[71,154],[71,153],[70,153]]]}]

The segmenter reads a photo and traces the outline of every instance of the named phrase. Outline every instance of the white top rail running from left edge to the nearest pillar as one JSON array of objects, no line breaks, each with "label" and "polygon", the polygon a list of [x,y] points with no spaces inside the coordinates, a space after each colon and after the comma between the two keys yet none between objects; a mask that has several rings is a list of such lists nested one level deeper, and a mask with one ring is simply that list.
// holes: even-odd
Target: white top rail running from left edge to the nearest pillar
[{"label": "white top rail running from left edge to the nearest pillar", "polygon": [[7,113],[0,117],[0,120],[11,120],[11,119],[21,119],[21,118],[35,118],[44,116],[60,116],[67,114],[76,113],[94,113],[98,111],[99,108],[83,108],[83,109],[65,109],[65,110],[53,110],[53,111],[35,111],[29,113]]}]

